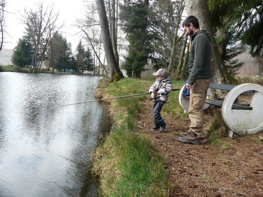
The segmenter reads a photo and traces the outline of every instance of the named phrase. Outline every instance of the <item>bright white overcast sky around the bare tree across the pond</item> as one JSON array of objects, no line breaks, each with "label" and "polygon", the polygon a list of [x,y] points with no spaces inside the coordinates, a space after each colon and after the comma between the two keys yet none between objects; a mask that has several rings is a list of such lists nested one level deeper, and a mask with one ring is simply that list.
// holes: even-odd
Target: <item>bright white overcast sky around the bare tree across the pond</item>
[{"label": "bright white overcast sky around the bare tree across the pond", "polygon": [[[74,35],[79,30],[73,26],[77,18],[83,18],[84,3],[83,0],[43,0],[44,6],[54,3],[54,13],[59,10],[58,24],[65,21],[63,28],[63,36],[67,38],[68,42],[72,44],[72,51],[78,44],[80,37]],[[13,49],[17,45],[17,41],[24,35],[24,25],[21,24],[21,14],[24,14],[24,7],[26,10],[29,8],[34,9],[38,0],[6,0],[5,10],[10,13],[6,14],[6,31],[4,34],[4,49]]]}]

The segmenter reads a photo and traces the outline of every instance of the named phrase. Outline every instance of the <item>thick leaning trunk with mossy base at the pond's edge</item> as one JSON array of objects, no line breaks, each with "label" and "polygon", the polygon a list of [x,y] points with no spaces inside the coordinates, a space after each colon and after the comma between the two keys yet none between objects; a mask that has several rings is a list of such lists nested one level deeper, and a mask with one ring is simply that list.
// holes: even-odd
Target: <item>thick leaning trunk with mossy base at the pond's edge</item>
[{"label": "thick leaning trunk with mossy base at the pond's edge", "polygon": [[107,64],[109,68],[109,82],[111,83],[113,81],[118,81],[119,79],[122,79],[123,74],[120,71],[120,68],[118,67],[114,56],[104,1],[96,0],[96,4],[99,14],[100,28],[102,32],[102,41],[104,45],[105,56],[107,58]]}]

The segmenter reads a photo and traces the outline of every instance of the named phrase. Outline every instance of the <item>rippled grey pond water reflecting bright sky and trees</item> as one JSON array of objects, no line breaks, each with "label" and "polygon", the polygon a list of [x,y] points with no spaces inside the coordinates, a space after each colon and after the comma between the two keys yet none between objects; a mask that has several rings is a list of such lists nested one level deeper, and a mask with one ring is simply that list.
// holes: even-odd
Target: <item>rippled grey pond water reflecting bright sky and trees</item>
[{"label": "rippled grey pond water reflecting bright sky and trees", "polygon": [[[109,131],[94,76],[0,72],[0,196],[98,196],[89,149]],[[60,187],[66,189],[60,188]]]}]

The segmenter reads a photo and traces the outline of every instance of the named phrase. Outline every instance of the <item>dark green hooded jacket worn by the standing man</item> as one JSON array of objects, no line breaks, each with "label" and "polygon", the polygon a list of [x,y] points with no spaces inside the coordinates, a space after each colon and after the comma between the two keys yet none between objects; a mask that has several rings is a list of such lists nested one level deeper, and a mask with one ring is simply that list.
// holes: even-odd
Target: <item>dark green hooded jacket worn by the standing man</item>
[{"label": "dark green hooded jacket worn by the standing man", "polygon": [[190,36],[189,77],[187,83],[194,85],[199,78],[209,79],[211,73],[211,37],[206,30]]}]

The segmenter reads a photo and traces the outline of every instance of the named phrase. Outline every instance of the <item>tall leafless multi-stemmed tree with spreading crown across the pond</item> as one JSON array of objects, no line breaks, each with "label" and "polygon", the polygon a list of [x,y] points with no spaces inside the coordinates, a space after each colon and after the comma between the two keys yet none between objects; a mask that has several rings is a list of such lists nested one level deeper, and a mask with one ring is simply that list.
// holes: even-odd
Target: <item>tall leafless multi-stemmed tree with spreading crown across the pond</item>
[{"label": "tall leafless multi-stemmed tree with spreading crown across the pond", "polygon": [[37,6],[37,12],[32,9],[27,11],[24,8],[24,14],[21,19],[22,23],[27,26],[26,30],[31,36],[35,47],[30,72],[37,70],[37,63],[43,58],[48,46],[64,25],[56,24],[59,12],[53,13],[53,4],[45,9],[43,8],[43,3],[38,3]]}]

